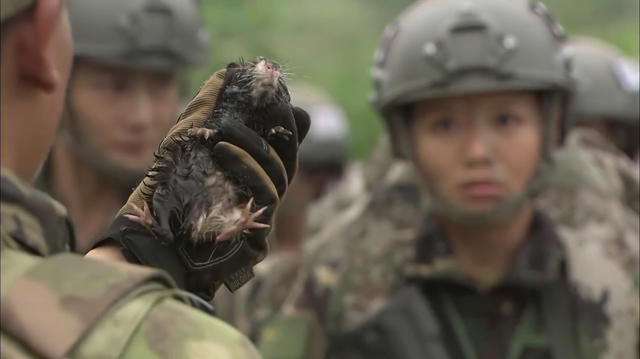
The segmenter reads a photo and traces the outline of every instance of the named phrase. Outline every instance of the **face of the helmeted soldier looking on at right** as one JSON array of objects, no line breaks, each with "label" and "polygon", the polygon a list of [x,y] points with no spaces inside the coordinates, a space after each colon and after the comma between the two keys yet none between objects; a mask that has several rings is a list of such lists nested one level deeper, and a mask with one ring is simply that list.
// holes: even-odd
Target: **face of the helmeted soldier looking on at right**
[{"label": "face of the helmeted soldier looking on at right", "polygon": [[522,192],[541,159],[542,116],[529,92],[425,100],[413,108],[415,162],[431,193],[470,212]]}]

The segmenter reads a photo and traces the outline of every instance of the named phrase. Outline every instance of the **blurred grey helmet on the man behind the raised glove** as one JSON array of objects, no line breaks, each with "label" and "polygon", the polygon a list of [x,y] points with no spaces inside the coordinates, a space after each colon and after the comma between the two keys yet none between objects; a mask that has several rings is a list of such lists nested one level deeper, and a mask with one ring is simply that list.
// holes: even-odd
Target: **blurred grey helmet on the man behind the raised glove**
[{"label": "blurred grey helmet on the man behind the raised glove", "polygon": [[208,59],[196,0],[70,0],[69,18],[76,57],[157,70]]}]

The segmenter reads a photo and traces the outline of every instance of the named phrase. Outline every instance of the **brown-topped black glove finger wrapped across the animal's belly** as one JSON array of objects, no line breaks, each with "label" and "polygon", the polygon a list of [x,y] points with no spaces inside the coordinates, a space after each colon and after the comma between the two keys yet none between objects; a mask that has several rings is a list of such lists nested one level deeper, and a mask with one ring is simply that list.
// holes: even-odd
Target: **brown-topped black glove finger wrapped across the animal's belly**
[{"label": "brown-topped black glove finger wrapped across the animal's belly", "polygon": [[228,176],[247,186],[258,207],[267,206],[260,217],[270,218],[279,197],[276,187],[260,164],[242,148],[228,142],[216,144],[213,155]]}]

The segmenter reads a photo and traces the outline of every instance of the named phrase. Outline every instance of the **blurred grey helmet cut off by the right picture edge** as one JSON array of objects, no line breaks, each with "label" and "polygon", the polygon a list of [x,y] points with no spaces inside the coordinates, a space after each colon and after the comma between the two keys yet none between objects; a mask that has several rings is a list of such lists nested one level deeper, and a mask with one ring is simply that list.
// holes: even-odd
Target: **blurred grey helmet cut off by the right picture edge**
[{"label": "blurred grey helmet cut off by the right picture edge", "polygon": [[568,44],[573,52],[576,91],[571,102],[576,120],[614,121],[638,125],[638,61],[593,38]]}]

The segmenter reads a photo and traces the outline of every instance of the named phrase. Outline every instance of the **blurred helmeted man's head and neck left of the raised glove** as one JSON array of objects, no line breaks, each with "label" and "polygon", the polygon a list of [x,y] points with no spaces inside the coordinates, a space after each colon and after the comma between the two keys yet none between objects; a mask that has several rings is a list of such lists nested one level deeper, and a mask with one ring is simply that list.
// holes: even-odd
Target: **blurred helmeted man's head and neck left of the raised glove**
[{"label": "blurred helmeted man's head and neck left of the raised glove", "polygon": [[74,67],[38,185],[68,208],[85,252],[151,164],[209,40],[193,0],[70,0],[69,16]]}]

